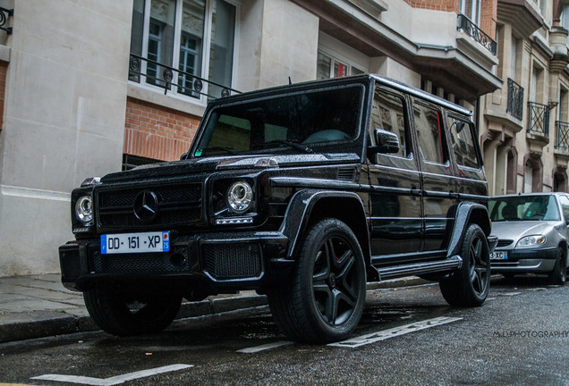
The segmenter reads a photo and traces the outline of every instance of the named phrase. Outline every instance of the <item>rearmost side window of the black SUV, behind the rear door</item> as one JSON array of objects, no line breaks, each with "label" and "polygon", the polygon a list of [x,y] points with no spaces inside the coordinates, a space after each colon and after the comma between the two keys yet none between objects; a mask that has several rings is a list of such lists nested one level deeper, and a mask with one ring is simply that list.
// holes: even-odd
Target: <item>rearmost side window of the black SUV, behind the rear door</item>
[{"label": "rearmost side window of the black SUV, behind the rear door", "polygon": [[476,139],[472,136],[471,123],[450,115],[447,122],[450,128],[451,144],[456,163],[461,166],[479,169],[480,162],[475,147]]}]

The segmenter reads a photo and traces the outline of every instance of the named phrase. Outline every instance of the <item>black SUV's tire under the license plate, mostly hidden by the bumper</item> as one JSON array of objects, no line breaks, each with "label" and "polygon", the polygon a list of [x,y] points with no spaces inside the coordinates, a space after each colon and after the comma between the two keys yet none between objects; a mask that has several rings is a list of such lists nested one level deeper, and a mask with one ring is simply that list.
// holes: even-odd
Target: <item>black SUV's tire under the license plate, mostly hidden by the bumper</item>
[{"label": "black SUV's tire under the license plate, mostly hidden by the bumper", "polygon": [[125,296],[96,288],[83,293],[89,315],[113,335],[133,336],[159,332],[174,321],[182,305],[180,296]]}]

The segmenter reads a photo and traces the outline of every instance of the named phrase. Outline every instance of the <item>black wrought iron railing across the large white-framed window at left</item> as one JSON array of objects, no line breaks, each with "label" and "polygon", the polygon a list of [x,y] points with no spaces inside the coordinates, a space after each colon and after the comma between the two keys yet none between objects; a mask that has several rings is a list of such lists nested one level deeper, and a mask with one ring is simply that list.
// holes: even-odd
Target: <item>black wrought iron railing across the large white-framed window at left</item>
[{"label": "black wrought iron railing across the large white-framed window at left", "polygon": [[[164,95],[176,88],[177,94],[200,98],[208,96],[230,96],[240,94],[234,88],[229,88],[211,80],[205,80],[190,72],[176,70],[174,67],[158,63],[151,59],[131,54],[129,64],[129,80],[137,83],[145,82],[158,88],[164,88]],[[204,83],[207,87],[204,89]]]}]

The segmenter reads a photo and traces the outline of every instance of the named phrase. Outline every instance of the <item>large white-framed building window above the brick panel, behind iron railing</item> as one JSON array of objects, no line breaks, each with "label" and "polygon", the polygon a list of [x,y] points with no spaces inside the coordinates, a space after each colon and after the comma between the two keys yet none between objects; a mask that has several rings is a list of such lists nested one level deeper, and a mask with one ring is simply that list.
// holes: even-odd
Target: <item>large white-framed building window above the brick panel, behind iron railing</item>
[{"label": "large white-framed building window above the brick panel, behind iron railing", "polygon": [[129,80],[200,98],[232,83],[236,7],[224,0],[134,0]]}]

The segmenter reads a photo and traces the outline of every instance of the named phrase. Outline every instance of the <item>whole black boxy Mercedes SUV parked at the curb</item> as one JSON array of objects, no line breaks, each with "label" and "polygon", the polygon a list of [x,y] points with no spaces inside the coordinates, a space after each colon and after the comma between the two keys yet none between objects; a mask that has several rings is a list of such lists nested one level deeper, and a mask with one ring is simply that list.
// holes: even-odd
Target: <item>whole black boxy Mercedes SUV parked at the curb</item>
[{"label": "whole black boxy Mercedes SUV parked at the curb", "polygon": [[62,280],[105,331],[161,331],[182,299],[257,290],[293,340],[343,340],[366,282],[488,295],[488,187],[471,112],[375,75],[209,103],[180,161],[86,180]]}]

